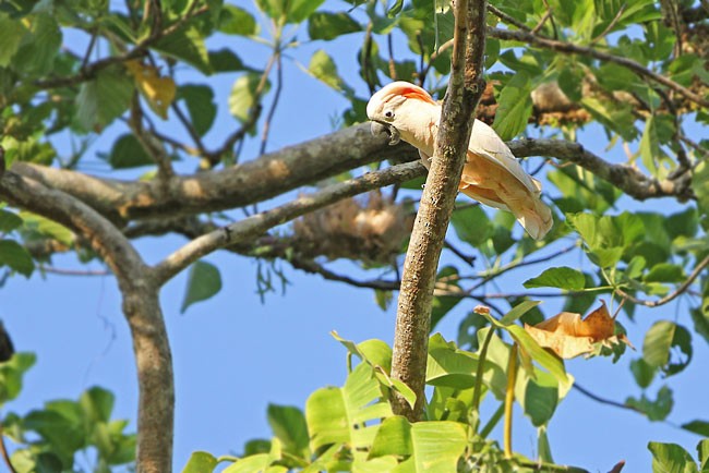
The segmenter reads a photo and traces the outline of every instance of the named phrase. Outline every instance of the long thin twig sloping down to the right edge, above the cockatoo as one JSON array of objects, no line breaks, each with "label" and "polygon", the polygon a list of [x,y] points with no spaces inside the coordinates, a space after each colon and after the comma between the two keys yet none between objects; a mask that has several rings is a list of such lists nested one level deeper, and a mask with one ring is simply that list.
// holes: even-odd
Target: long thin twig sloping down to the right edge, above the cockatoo
[{"label": "long thin twig sloping down to the right edge, above the cockatoo", "polygon": [[510,31],[510,29],[500,29],[500,28],[489,28],[488,34],[496,39],[505,39],[512,41],[521,41],[527,43],[532,46],[538,46],[540,48],[551,49],[553,51],[563,52],[566,54],[584,54],[591,58],[614,62],[624,68],[629,69],[633,72],[636,72],[638,75],[648,77],[659,84],[662,84],[678,94],[682,94],[687,99],[698,104],[702,107],[709,107],[709,100],[701,97],[699,94],[695,94],[683,85],[677,84],[676,82],[665,77],[664,75],[654,73],[647,68],[644,68],[639,63],[633,61],[632,59],[622,58],[620,56],[610,54],[608,52],[599,51],[587,46],[578,46],[572,43],[560,41],[556,39],[549,39],[538,35],[532,35],[528,32]]}]

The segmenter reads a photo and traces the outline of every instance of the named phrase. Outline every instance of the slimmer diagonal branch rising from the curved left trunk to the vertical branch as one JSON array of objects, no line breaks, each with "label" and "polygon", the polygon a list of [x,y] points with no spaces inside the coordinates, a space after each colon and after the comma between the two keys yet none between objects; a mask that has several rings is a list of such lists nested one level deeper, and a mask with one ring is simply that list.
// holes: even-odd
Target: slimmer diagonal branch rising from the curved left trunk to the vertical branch
[{"label": "slimmer diagonal branch rising from the curved left trunk to the vertical branch", "polygon": [[280,207],[253,215],[192,240],[155,266],[156,278],[163,284],[179,271],[215,250],[254,239],[273,227],[334,204],[343,198],[405,182],[422,175],[423,172],[423,166],[419,162],[398,165],[381,171],[368,172],[361,178],[331,185],[314,194],[301,196]]}]

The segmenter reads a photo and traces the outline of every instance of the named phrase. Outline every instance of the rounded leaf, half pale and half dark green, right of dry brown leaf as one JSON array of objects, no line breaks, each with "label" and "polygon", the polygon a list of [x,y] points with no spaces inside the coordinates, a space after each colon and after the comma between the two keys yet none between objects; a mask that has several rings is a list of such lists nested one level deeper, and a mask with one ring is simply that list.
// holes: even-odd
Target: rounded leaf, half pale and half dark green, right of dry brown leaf
[{"label": "rounded leaf, half pale and half dark green, right of dry brown leaf", "polygon": [[[686,360],[671,362],[672,348],[678,348]],[[666,375],[683,371],[692,360],[692,336],[681,325],[669,320],[658,320],[645,335],[642,359],[654,368],[661,368]]]}]

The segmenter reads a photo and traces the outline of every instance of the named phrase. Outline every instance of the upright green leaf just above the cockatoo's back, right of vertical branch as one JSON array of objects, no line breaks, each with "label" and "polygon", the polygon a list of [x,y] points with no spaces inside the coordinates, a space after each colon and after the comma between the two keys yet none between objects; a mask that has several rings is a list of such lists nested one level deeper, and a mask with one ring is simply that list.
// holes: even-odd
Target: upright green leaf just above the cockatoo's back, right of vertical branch
[{"label": "upright green leaf just above the cockatoo's back, right of vertical branch", "polygon": [[497,112],[492,128],[504,140],[509,141],[525,131],[532,112],[532,84],[529,76],[518,72],[500,94]]}]

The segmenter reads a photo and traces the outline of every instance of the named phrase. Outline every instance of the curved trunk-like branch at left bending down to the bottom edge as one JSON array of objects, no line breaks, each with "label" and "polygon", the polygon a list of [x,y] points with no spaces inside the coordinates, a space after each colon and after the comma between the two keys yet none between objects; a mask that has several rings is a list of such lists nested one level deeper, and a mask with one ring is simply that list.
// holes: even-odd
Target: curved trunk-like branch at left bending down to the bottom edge
[{"label": "curved trunk-like branch at left bending down to the bottom edge", "polygon": [[128,239],[96,210],[61,191],[7,171],[0,198],[64,225],[91,243],[118,279],[133,337],[139,376],[136,466],[141,473],[172,468],[175,387],[159,286]]}]

